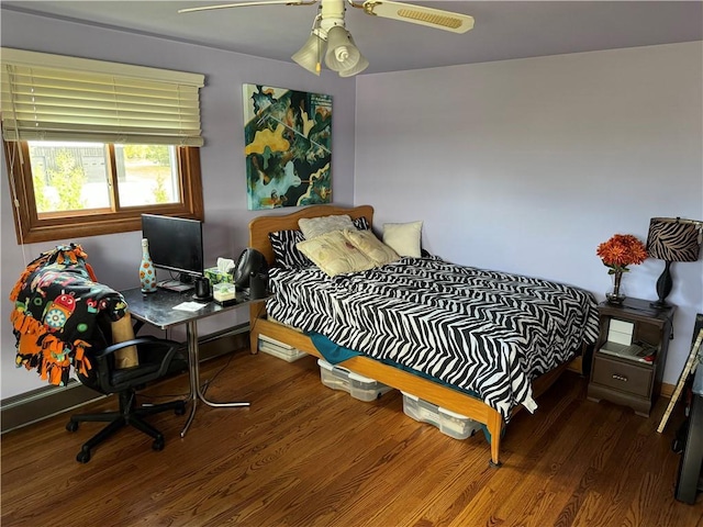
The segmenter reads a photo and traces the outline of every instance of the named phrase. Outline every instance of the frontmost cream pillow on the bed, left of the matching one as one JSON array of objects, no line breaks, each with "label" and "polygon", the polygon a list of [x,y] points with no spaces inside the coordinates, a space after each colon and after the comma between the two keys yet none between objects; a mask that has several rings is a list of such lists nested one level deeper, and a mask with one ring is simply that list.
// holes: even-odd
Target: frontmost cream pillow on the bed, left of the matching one
[{"label": "frontmost cream pillow on the bed, left of the matching one", "polygon": [[342,231],[299,242],[298,248],[330,277],[376,267],[376,264],[357,249]]}]

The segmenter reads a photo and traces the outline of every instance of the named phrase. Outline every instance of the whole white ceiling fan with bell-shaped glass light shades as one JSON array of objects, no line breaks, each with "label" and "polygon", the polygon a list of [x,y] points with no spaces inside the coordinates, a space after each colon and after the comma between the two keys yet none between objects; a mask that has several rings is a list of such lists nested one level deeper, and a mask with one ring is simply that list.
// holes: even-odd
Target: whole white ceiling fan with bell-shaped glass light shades
[{"label": "whole white ceiling fan with bell-shaped glass light shades", "polygon": [[[214,9],[245,8],[252,5],[312,5],[319,0],[259,0],[253,2],[225,3],[220,5],[202,5],[178,10],[179,13],[209,11]],[[366,0],[356,2],[346,0],[353,8],[362,9],[366,14],[384,19],[401,20],[413,24],[426,25],[437,30],[466,33],[473,27],[473,18],[468,14],[454,13],[440,9],[425,8],[410,3],[386,0]],[[312,31],[303,47],[291,57],[308,71],[320,75],[324,56],[327,67],[339,74],[339,77],[352,77],[364,71],[369,61],[356,47],[352,34],[344,24],[345,0],[320,0],[317,15]],[[326,47],[326,51],[325,51]]]}]

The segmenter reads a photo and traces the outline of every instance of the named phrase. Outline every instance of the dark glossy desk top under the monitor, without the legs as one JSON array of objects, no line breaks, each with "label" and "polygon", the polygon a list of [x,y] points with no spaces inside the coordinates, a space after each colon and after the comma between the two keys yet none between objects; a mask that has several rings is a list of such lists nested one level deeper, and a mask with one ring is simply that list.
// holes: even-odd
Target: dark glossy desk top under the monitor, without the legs
[{"label": "dark glossy desk top under the monitor, without the legs", "polygon": [[[157,289],[155,293],[143,293],[140,288],[120,291],[129,305],[130,314],[137,321],[146,322],[160,329],[186,324],[204,318],[215,313],[230,311],[253,302],[263,302],[266,299],[249,300],[248,293],[237,292],[235,304],[220,305],[214,301],[201,302],[192,299],[193,292],[176,292],[167,289]],[[202,307],[198,311],[180,311],[174,307],[183,302],[198,302]]]}]

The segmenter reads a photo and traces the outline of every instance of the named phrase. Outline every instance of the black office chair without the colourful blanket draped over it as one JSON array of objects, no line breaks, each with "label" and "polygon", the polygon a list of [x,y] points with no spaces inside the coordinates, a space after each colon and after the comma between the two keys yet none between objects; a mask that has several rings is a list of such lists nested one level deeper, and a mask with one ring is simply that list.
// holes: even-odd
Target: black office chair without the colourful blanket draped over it
[{"label": "black office chair without the colourful blanket draped over it", "polygon": [[[185,369],[182,345],[174,340],[144,336],[123,343],[107,345],[112,340],[110,327],[99,323],[93,332],[93,348],[87,351],[92,368],[87,374],[78,372],[79,380],[88,388],[103,394],[116,393],[120,399],[120,410],[97,414],[79,414],[71,416],[66,425],[69,431],[76,431],[78,424],[83,422],[108,422],[102,430],[83,444],[76,460],[81,463],[90,461],[90,451],[100,442],[108,439],[121,428],[131,425],[154,438],[152,448],[163,450],[165,439],[163,434],[149,425],[144,417],[159,412],[174,411],[176,415],[186,413],[186,402],[171,401],[161,404],[137,406],[136,392],[146,383],[164,378],[169,372]],[[131,368],[115,368],[115,351],[127,346],[136,346],[138,365]]]}]

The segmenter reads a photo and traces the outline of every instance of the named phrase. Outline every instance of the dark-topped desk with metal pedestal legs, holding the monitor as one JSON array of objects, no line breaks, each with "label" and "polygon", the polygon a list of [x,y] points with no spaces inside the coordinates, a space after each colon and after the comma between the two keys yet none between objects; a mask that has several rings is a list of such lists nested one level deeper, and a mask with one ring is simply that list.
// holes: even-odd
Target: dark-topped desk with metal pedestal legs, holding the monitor
[{"label": "dark-topped desk with metal pedestal legs, holding the monitor", "polygon": [[215,403],[209,401],[202,392],[200,383],[200,367],[198,350],[198,321],[207,316],[222,313],[225,311],[236,310],[248,306],[253,302],[263,302],[265,299],[248,300],[243,293],[237,293],[237,303],[232,305],[220,305],[216,302],[208,302],[198,311],[180,311],[174,307],[182,302],[192,301],[192,291],[175,292],[166,289],[158,289],[155,293],[142,293],[140,288],[127,289],[121,291],[124,300],[129,304],[129,311],[133,318],[145,322],[160,329],[186,324],[186,336],[188,346],[188,377],[190,381],[190,394],[188,400],[191,402],[190,415],[186,421],[186,426],[180,433],[180,437],[186,437],[188,428],[196,416],[196,406],[198,400],[213,407],[237,407],[248,406],[249,403]]}]

